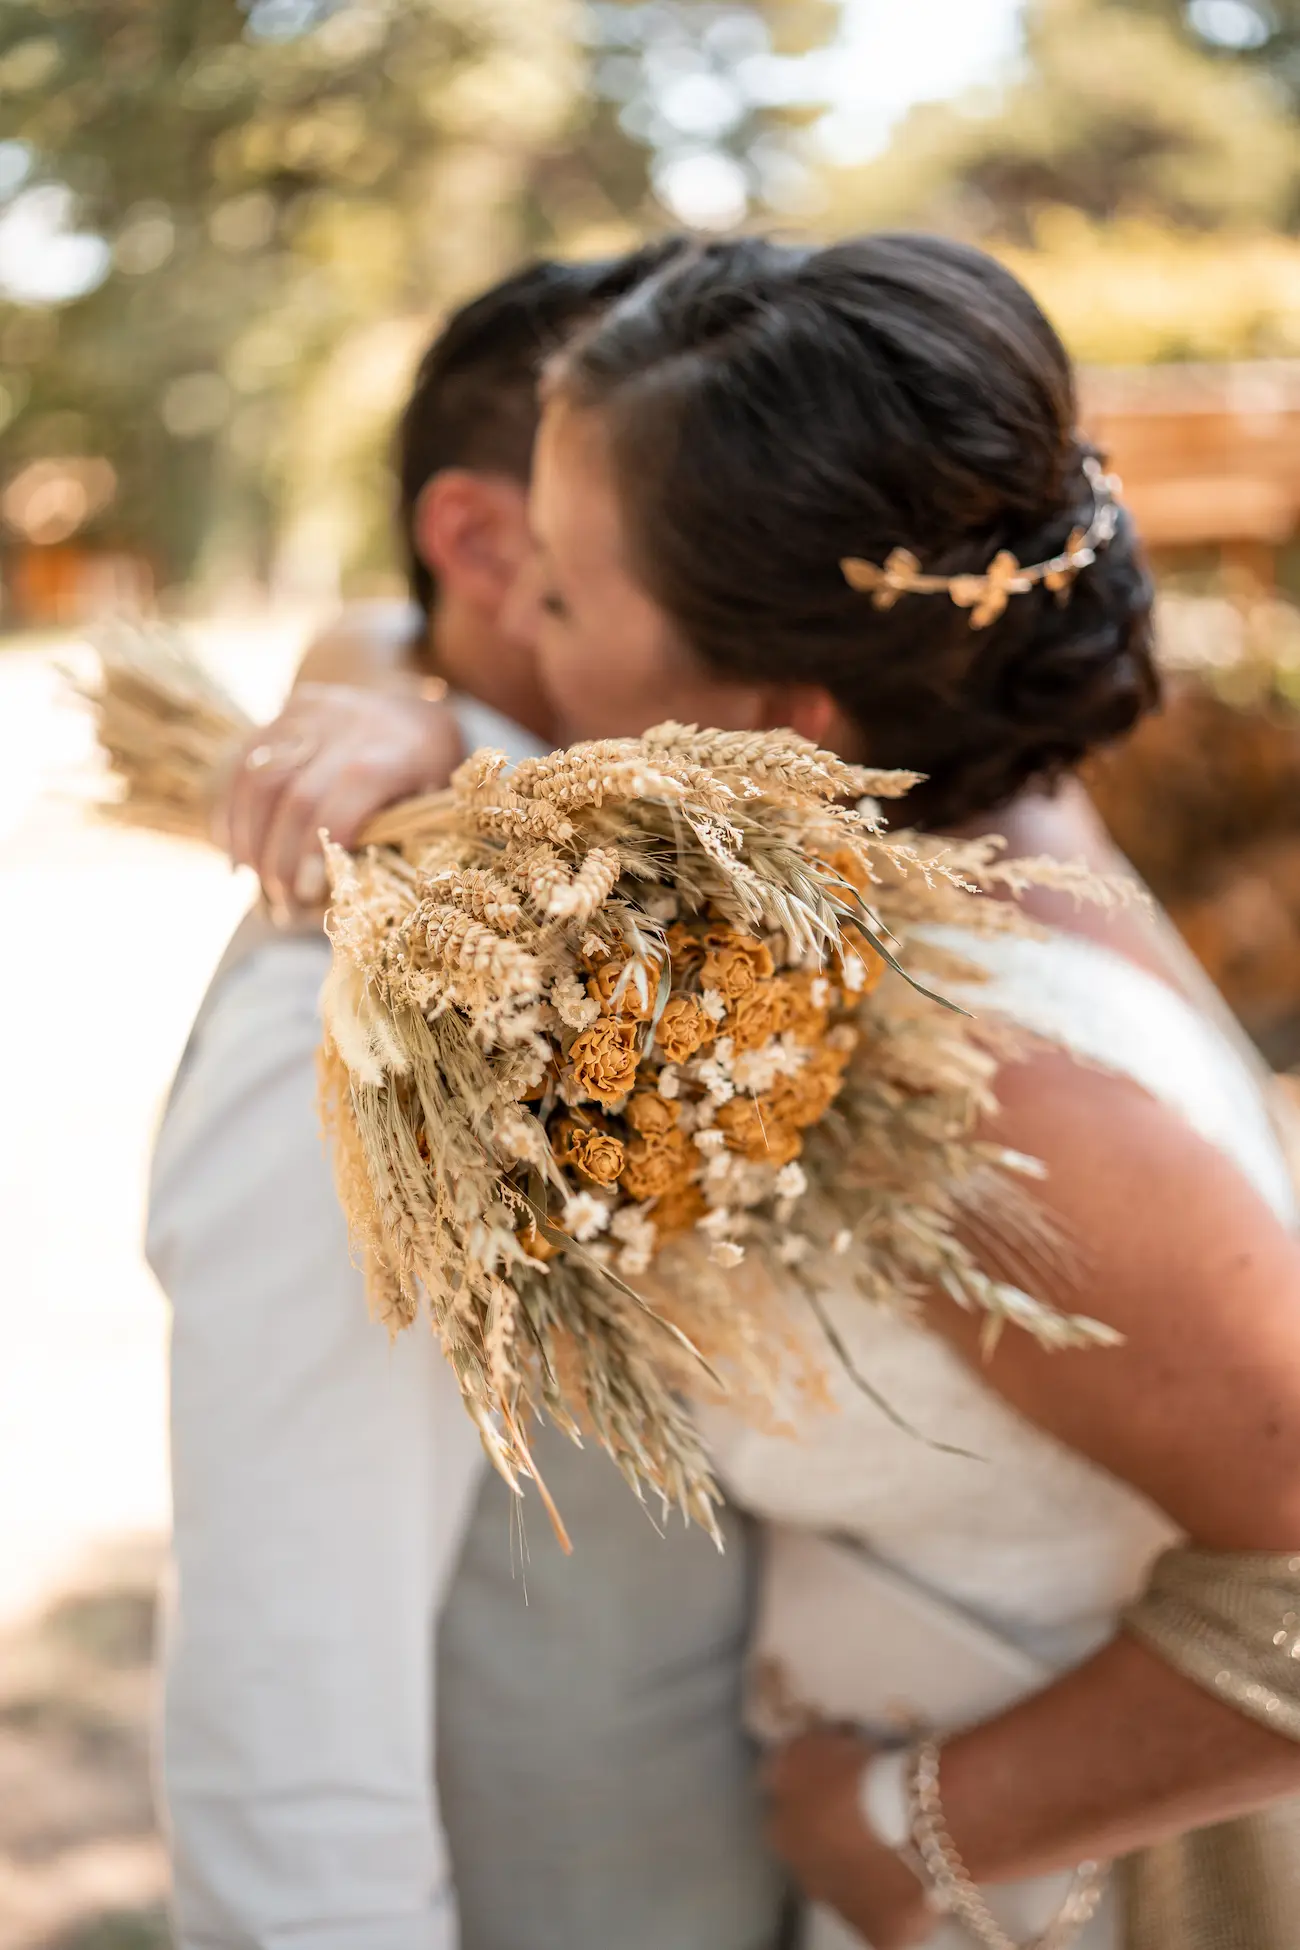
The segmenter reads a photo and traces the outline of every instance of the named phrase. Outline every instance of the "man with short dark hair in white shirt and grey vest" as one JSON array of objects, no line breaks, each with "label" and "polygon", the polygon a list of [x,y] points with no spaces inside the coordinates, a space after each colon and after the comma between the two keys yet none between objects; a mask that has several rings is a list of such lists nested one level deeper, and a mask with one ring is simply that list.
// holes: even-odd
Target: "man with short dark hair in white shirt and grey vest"
[{"label": "man with short dark hair in white shirt and grey vest", "polygon": [[[511,577],[481,569],[522,525],[538,359],[643,271],[540,265],[452,320],[421,369],[401,456],[413,591],[435,669],[483,702],[509,710],[507,659],[528,696]],[[452,484],[474,519],[435,519]],[[318,675],[351,673],[337,638],[327,655]],[[739,1732],[746,1525],[725,1513],[725,1556],[700,1533],[661,1540],[602,1453],[554,1435],[540,1462],[573,1558],[534,1500],[520,1550],[491,1472],[464,1535],[439,1523],[458,1496],[439,1431],[462,1410],[433,1338],[388,1347],[349,1264],[314,1112],[325,963],[318,928],[242,930],[158,1143],[177,1942],[772,1950],[782,1890]]]}]

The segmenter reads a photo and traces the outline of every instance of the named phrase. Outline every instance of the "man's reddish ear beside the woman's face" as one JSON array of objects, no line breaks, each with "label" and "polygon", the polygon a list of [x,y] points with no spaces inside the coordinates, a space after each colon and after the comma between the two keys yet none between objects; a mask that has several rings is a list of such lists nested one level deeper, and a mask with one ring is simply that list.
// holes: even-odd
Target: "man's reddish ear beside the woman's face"
[{"label": "man's reddish ear beside the woman's face", "polygon": [[442,468],[411,513],[415,550],[439,591],[495,612],[528,556],[528,491],[507,474]]}]

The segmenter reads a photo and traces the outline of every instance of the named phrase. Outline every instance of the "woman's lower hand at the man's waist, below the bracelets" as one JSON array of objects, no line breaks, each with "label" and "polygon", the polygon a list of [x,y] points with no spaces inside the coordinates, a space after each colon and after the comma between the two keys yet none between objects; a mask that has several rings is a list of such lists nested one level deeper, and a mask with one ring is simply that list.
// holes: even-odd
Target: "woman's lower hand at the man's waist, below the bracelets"
[{"label": "woman's lower hand at the man's waist, below the bracelets", "polygon": [[871,1950],[924,1944],[937,1917],[906,1862],[861,1819],[871,1747],[826,1728],[780,1747],[764,1767],[768,1845],[809,1901],[836,1909]]}]

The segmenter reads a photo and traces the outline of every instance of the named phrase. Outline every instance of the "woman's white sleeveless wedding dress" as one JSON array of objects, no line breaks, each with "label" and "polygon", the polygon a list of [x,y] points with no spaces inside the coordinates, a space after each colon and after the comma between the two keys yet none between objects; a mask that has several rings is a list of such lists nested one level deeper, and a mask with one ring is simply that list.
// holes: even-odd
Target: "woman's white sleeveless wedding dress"
[{"label": "woman's white sleeveless wedding dress", "polygon": [[[973,1008],[996,1010],[1134,1078],[1294,1223],[1263,1078],[1183,996],[1076,936],[951,936],[949,944],[990,975],[965,996]],[[1054,1671],[1097,1650],[1154,1554],[1173,1540],[1169,1519],[1025,1422],[924,1328],[848,1295],[832,1312],[856,1365],[906,1424],[978,1461],[899,1429],[840,1377],[840,1412],[807,1420],[797,1443],[748,1429],[725,1410],[707,1414],[727,1492],[758,1517],[858,1539]],[[834,1620],[826,1630],[834,1632]],[[996,1907],[1012,1929],[1041,1929],[1062,1888],[1052,1878],[1000,1892]],[[832,1950],[850,1940],[838,1925],[817,1921],[807,1946]],[[969,1938],[953,1927],[934,1938],[936,1950],[963,1944]],[[1115,1950],[1109,1901],[1082,1944]]]}]

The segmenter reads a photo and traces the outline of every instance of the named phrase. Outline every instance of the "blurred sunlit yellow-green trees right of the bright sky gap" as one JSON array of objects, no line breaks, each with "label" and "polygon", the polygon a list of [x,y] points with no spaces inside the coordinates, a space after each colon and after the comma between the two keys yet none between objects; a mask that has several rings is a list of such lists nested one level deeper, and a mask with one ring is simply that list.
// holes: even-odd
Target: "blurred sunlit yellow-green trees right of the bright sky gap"
[{"label": "blurred sunlit yellow-green trees right of the bright sky gap", "polygon": [[998,250],[1097,363],[1300,353],[1300,0],[1027,0],[1004,86],[832,172],[832,230]]}]

